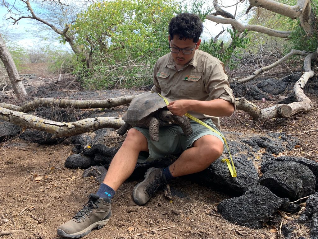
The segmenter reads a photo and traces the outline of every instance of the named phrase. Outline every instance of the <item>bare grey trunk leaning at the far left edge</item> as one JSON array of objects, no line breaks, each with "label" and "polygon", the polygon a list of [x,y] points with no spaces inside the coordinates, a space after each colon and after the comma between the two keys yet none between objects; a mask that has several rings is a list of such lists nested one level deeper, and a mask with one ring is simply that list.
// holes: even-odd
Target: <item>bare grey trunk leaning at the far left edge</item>
[{"label": "bare grey trunk leaning at the far left edge", "polygon": [[8,48],[6,47],[1,34],[0,34],[0,58],[1,58],[1,61],[3,62],[5,69],[7,70],[10,82],[12,84],[14,93],[16,94],[17,98],[26,96],[27,93],[21,82],[16,65],[14,64],[12,56]]}]

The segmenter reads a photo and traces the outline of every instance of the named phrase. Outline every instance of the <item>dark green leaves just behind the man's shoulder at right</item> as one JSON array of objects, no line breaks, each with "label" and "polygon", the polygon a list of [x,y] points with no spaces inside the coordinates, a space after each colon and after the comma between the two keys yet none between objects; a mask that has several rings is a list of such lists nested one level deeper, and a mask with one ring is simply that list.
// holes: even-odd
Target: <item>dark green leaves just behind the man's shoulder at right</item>
[{"label": "dark green leaves just behind the man's shoulder at right", "polygon": [[[228,65],[230,69],[233,69],[238,65],[238,59],[242,59],[240,48],[245,49],[247,44],[250,43],[250,39],[236,36],[238,33],[237,30],[233,31],[228,28],[227,32],[230,33],[232,42],[225,50],[223,47],[223,41],[214,43],[213,39],[211,39],[210,42],[204,41],[201,43],[200,49],[218,58],[224,64]],[[242,34],[246,35],[246,33],[247,30],[245,30]]]}]

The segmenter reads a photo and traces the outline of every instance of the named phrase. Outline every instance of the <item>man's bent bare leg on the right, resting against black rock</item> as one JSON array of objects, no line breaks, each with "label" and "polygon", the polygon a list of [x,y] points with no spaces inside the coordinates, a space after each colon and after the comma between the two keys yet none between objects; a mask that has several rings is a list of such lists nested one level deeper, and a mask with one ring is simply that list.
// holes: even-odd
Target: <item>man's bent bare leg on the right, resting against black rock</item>
[{"label": "man's bent bare leg on the right, resting against black rock", "polygon": [[183,151],[180,157],[169,166],[173,177],[200,172],[223,153],[224,144],[216,136],[204,135],[193,143],[193,147]]}]

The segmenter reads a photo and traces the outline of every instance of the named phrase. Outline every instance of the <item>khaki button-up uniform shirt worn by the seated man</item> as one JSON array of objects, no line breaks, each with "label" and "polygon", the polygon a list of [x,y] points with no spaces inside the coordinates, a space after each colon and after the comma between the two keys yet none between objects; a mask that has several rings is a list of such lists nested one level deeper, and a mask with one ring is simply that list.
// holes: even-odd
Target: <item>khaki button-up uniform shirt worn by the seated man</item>
[{"label": "khaki button-up uniform shirt worn by the seated man", "polygon": [[[227,81],[223,63],[210,54],[196,50],[190,62],[176,70],[170,53],[162,56],[154,66],[154,86],[151,92],[160,93],[172,101],[179,99],[224,99],[234,107],[234,95]],[[189,111],[200,120],[211,118],[220,128],[219,118]]]}]

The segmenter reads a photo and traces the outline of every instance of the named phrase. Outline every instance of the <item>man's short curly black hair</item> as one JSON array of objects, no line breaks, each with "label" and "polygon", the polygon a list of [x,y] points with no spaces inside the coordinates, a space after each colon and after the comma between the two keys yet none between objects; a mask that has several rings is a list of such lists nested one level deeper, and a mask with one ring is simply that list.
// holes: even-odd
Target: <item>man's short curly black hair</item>
[{"label": "man's short curly black hair", "polygon": [[201,19],[193,13],[181,13],[172,18],[169,23],[170,39],[175,35],[179,36],[179,40],[193,39],[197,42],[203,32],[203,24]]}]

